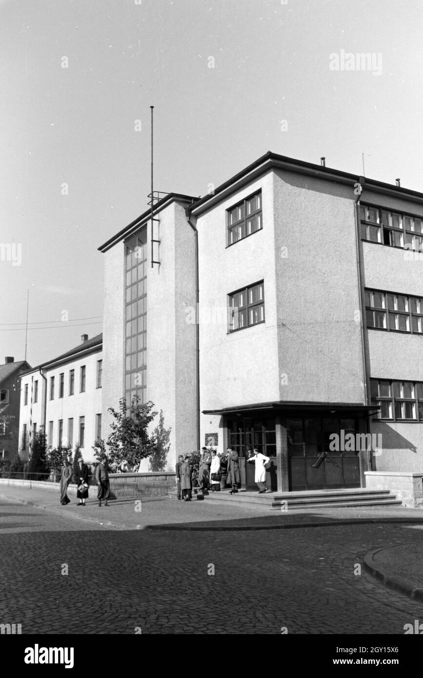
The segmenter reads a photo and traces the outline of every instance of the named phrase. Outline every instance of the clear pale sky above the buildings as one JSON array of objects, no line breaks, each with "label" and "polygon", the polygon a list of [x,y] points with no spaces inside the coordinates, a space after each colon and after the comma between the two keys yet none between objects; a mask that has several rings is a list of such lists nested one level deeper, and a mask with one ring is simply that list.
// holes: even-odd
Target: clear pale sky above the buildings
[{"label": "clear pale sky above the buildings", "polygon": [[266,151],[357,174],[365,153],[423,191],[422,35],[418,0],[0,0],[0,363],[28,289],[31,365],[102,331],[97,248],[146,210],[150,105],[159,191]]}]

